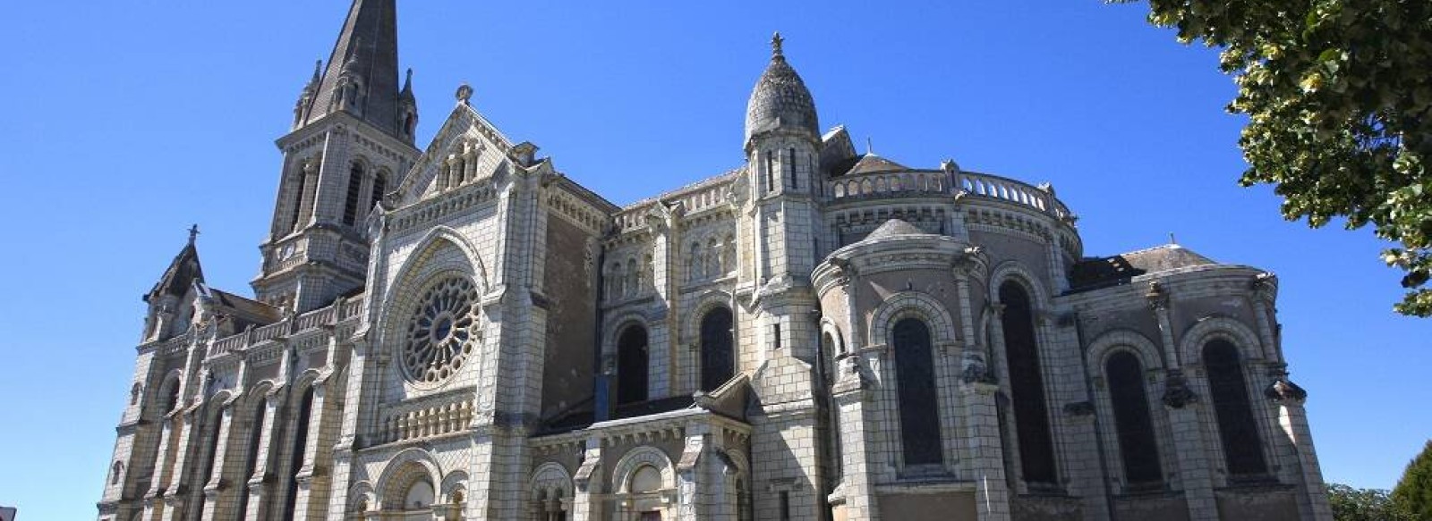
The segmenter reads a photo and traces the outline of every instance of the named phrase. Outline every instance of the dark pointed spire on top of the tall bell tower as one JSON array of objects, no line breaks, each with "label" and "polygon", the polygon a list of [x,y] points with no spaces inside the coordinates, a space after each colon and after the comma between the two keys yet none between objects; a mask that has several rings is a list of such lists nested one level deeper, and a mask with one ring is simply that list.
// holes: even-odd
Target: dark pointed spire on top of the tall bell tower
[{"label": "dark pointed spire on top of the tall bell tower", "polygon": [[354,0],[348,9],[328,67],[319,80],[314,107],[306,122],[329,113],[339,77],[361,77],[367,96],[355,115],[384,132],[398,136],[398,9],[395,0]]}]

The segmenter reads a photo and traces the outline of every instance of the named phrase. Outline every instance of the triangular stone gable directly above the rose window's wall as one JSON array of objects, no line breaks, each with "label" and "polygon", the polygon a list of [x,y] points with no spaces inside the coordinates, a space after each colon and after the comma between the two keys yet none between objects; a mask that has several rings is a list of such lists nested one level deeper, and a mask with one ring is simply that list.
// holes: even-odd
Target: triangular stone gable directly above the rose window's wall
[{"label": "triangular stone gable directly above the rose window's wall", "polygon": [[[471,106],[460,103],[442,122],[422,156],[408,170],[398,189],[398,208],[431,198],[445,188],[455,186],[461,176],[467,183],[493,177],[494,173],[513,172],[513,155],[518,146],[503,136],[483,115]],[[455,172],[457,166],[465,172]]]}]

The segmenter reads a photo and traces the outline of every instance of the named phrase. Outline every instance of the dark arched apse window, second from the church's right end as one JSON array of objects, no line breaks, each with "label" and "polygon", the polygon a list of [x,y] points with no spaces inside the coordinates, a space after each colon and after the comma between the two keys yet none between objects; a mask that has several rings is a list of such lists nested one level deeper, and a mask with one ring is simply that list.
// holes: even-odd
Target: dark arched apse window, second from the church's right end
[{"label": "dark arched apse window, second from the church's right end", "polygon": [[1114,404],[1114,429],[1118,432],[1118,454],[1124,459],[1124,479],[1130,485],[1163,482],[1143,364],[1138,364],[1134,354],[1120,351],[1104,364],[1104,375],[1108,381],[1108,399]]}]

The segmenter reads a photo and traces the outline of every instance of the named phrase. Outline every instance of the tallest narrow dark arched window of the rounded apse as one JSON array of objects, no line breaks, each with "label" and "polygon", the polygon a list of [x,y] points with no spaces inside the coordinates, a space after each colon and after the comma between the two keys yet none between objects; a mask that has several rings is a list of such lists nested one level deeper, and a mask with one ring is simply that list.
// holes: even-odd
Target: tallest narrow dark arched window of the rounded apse
[{"label": "tallest narrow dark arched window of the rounded apse", "polygon": [[1000,286],[1000,318],[1004,331],[1005,359],[1010,368],[1010,394],[1014,402],[1014,429],[1020,441],[1020,469],[1031,484],[1057,484],[1050,414],[1044,404],[1044,374],[1034,336],[1034,308],[1030,293],[1018,282]]}]

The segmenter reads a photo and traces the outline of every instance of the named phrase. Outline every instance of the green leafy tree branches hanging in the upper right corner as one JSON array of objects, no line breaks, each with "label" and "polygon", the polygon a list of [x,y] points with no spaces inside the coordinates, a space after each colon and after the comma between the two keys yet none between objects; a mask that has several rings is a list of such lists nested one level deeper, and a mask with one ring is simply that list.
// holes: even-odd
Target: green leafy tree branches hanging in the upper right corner
[{"label": "green leafy tree branches hanging in the upper right corner", "polygon": [[[1137,0],[1110,0],[1116,3]],[[1220,47],[1227,110],[1247,115],[1240,183],[1272,183],[1289,220],[1345,218],[1396,246],[1393,308],[1432,316],[1432,1],[1148,0],[1179,40]]]}]

